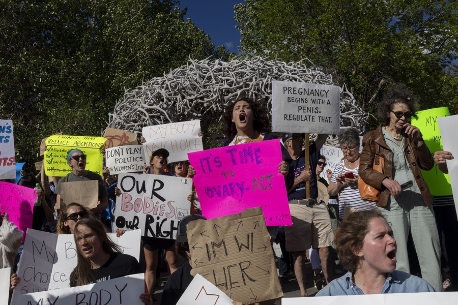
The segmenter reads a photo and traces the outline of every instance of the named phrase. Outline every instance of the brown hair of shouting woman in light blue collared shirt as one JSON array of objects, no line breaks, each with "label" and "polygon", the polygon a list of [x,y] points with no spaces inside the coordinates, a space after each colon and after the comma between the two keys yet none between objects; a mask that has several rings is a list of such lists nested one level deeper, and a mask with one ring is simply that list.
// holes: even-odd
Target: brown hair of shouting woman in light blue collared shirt
[{"label": "brown hair of shouting woman in light blue collared shirt", "polygon": [[362,249],[364,237],[369,232],[369,222],[373,218],[385,219],[377,209],[356,211],[349,214],[336,229],[334,240],[337,254],[342,266],[352,273],[360,264],[355,252]]}]

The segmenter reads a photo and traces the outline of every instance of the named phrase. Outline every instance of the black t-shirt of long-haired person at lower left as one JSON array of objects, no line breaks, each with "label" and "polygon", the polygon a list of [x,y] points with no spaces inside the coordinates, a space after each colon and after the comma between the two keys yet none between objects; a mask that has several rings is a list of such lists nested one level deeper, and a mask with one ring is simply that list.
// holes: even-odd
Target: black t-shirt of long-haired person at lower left
[{"label": "black t-shirt of long-haired person at lower left", "polygon": [[[95,282],[108,281],[144,272],[135,257],[118,252],[111,253],[106,263],[92,271],[94,272]],[[70,287],[76,287],[77,278],[74,272],[75,270],[70,275]]]}]

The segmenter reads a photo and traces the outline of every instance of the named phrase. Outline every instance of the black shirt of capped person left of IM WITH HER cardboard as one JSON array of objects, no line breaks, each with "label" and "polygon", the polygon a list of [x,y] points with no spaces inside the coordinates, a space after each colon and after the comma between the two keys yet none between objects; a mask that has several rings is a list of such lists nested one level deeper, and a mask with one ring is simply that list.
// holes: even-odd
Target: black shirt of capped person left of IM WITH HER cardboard
[{"label": "black shirt of capped person left of IM WITH HER cardboard", "polygon": [[191,276],[191,269],[189,260],[187,260],[177,271],[170,275],[162,292],[161,305],[175,305],[178,302],[194,279]]}]

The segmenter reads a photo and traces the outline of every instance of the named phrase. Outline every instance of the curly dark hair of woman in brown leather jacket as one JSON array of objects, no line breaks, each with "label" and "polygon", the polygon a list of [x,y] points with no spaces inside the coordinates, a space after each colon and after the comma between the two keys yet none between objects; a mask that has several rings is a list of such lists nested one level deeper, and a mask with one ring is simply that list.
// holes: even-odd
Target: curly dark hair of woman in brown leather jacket
[{"label": "curly dark hair of woman in brown leather jacket", "polygon": [[393,87],[388,88],[383,96],[383,100],[379,103],[379,118],[382,126],[390,124],[390,116],[387,115],[393,109],[394,104],[404,103],[410,108],[412,116],[418,118],[416,97],[407,88],[405,84],[398,83]]}]

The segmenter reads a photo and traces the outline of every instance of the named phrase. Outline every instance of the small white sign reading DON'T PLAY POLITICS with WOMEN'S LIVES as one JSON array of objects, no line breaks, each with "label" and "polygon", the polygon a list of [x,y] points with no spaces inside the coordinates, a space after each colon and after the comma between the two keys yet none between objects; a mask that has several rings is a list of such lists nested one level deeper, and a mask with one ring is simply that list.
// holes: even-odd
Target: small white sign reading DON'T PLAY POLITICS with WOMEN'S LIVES
[{"label": "small white sign reading DON'T PLAY POLITICS with WOMEN'S LIVES", "polygon": [[145,154],[142,145],[126,145],[105,149],[105,162],[111,175],[143,172]]}]

